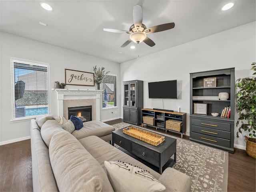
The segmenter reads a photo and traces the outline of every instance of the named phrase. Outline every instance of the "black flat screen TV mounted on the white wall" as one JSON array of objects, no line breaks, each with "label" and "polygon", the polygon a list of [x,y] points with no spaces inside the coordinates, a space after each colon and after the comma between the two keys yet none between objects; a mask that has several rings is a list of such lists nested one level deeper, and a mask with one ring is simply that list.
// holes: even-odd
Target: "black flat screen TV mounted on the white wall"
[{"label": "black flat screen TV mounted on the white wall", "polygon": [[177,80],[149,82],[148,97],[152,99],[177,99]]}]

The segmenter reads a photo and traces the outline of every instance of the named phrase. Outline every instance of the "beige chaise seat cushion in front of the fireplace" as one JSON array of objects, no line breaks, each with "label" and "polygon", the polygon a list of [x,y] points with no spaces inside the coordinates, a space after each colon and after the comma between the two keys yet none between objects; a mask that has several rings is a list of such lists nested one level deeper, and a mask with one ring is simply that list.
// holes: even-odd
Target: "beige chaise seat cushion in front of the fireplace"
[{"label": "beige chaise seat cushion in front of the fireplace", "polygon": [[112,131],[115,130],[113,126],[98,120],[84,122],[83,125],[82,129],[74,130],[74,132],[72,132],[72,135],[77,139],[82,139],[92,135],[102,137],[112,134]]}]

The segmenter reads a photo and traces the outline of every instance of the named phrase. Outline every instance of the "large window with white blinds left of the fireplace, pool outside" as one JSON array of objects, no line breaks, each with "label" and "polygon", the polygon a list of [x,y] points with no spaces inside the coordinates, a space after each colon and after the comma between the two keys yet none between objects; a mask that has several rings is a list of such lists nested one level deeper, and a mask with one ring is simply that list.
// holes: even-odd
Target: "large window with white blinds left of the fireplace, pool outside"
[{"label": "large window with white blinds left of the fireplace, pool outside", "polygon": [[50,114],[49,64],[11,59],[12,119]]}]

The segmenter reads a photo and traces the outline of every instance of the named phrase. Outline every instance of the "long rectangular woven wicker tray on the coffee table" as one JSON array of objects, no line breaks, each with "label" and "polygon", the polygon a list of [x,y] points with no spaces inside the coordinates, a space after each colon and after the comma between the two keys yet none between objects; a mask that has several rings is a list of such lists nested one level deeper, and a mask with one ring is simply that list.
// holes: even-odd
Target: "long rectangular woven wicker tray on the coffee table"
[{"label": "long rectangular woven wicker tray on the coffee table", "polygon": [[158,146],[160,143],[164,142],[164,136],[146,131],[137,127],[126,127],[123,129],[123,133],[130,135],[134,138],[147,142],[151,145]]}]

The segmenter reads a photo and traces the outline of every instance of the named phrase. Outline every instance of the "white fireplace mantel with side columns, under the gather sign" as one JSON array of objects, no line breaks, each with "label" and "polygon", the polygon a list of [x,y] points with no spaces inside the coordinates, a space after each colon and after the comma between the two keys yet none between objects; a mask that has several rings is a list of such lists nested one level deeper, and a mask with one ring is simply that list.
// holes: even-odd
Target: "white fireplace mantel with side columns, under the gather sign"
[{"label": "white fireplace mantel with side columns, under the gather sign", "polygon": [[96,100],[96,120],[100,120],[100,98],[103,90],[85,90],[85,89],[52,89],[56,92],[58,100],[58,116],[63,116],[63,100]]}]

